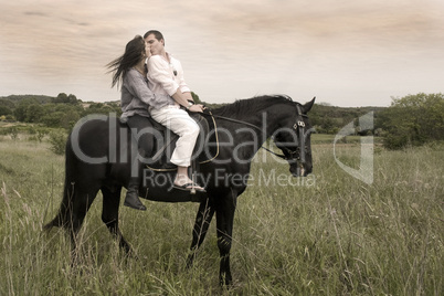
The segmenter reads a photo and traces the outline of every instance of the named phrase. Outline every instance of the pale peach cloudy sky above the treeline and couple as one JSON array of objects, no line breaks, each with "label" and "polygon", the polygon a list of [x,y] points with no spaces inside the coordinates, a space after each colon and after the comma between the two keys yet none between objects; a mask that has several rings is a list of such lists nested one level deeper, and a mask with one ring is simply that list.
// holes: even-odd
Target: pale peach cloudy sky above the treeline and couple
[{"label": "pale peach cloudy sky above the treeline and couple", "polygon": [[150,29],[208,103],[390,106],[444,92],[443,0],[2,0],[0,96],[118,101],[106,64]]}]

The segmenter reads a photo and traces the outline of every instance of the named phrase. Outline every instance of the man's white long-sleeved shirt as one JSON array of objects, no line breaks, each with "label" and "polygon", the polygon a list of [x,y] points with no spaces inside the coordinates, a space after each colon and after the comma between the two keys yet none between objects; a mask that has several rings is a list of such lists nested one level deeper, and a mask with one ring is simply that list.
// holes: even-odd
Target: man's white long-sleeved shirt
[{"label": "man's white long-sleeved shirt", "polygon": [[178,89],[191,92],[183,78],[183,68],[179,60],[167,53],[170,63],[161,55],[152,55],[148,60],[148,85],[155,94],[172,96]]}]

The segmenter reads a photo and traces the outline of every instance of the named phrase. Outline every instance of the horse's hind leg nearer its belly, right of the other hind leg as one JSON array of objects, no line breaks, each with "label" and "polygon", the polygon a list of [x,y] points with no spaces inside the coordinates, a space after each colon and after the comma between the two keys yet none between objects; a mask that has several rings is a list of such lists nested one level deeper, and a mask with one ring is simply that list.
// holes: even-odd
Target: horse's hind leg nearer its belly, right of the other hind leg
[{"label": "horse's hind leg nearer its belly, right of the other hind leg", "polygon": [[102,187],[101,190],[103,194],[102,221],[108,228],[113,236],[118,240],[119,246],[125,250],[127,254],[129,254],[131,252],[131,247],[124,239],[124,235],[118,228],[118,210],[120,204],[121,187]]}]

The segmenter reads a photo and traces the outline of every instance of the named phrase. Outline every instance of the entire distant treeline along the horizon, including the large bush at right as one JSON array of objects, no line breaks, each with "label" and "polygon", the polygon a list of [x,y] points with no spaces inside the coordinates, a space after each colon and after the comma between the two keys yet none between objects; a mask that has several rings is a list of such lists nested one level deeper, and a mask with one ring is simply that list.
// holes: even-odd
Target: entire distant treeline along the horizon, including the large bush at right
[{"label": "entire distant treeline along the horizon, including the large bush at right", "polygon": [[[195,102],[209,108],[223,104],[201,102],[192,93]],[[358,118],[373,112],[373,129],[361,130]],[[59,94],[56,97],[42,95],[11,95],[0,97],[0,119],[40,124],[47,127],[71,129],[82,117],[89,114],[121,114],[119,102],[82,102],[75,95]],[[444,95],[424,94],[393,98],[390,107],[336,107],[315,104],[309,114],[315,133],[337,134],[350,123],[355,123],[353,134],[377,135],[384,138],[384,146],[399,149],[405,146],[444,139]]]}]

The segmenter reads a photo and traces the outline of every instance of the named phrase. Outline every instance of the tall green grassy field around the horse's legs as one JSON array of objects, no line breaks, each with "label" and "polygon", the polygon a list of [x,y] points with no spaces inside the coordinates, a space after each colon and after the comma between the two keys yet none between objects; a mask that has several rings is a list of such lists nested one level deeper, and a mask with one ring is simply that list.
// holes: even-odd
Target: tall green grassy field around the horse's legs
[{"label": "tall green grassy field around the horse's legs", "polygon": [[[271,158],[254,162],[239,200],[228,292],[218,285],[214,221],[184,268],[193,203],[121,207],[137,254],[126,258],[101,221],[98,197],[72,267],[66,233],[42,232],[60,205],[63,156],[45,141],[0,136],[0,295],[444,295],[444,148],[377,148],[366,184],[337,165],[332,138],[314,137],[310,178],[288,179],[288,167]],[[359,166],[356,141],[336,152]]]}]

